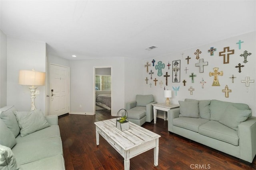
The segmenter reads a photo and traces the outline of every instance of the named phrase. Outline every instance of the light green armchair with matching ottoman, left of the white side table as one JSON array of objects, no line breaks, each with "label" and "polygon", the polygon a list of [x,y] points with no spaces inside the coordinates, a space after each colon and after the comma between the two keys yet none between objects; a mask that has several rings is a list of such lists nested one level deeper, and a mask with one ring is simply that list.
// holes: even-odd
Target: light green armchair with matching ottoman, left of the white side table
[{"label": "light green armchair with matching ottoman, left of the white side table", "polygon": [[[145,122],[151,122],[154,119],[153,106],[154,96],[148,95],[136,95],[135,101],[126,103],[126,110],[128,113],[128,119],[136,125],[143,125]],[[122,113],[122,116],[125,112]]]}]

